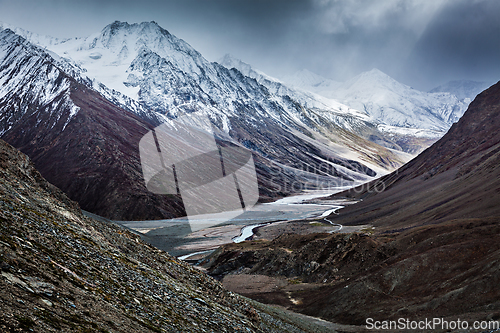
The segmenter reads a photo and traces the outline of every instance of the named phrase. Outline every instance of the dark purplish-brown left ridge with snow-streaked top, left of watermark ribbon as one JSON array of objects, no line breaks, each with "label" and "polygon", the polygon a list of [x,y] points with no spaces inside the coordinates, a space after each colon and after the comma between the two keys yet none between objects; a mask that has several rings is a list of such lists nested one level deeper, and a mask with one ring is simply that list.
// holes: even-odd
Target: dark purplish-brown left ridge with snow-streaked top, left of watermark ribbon
[{"label": "dark purplish-brown left ridge with snow-streaked top, left of watermark ribbon", "polygon": [[[30,155],[42,174],[86,210],[116,219],[183,211],[175,196],[154,196],[143,185],[133,142],[153,124],[77,82],[12,31],[0,36],[7,39],[0,47],[10,55],[1,67],[8,81],[0,98],[2,138]],[[132,197],[136,202],[128,202]]]}]

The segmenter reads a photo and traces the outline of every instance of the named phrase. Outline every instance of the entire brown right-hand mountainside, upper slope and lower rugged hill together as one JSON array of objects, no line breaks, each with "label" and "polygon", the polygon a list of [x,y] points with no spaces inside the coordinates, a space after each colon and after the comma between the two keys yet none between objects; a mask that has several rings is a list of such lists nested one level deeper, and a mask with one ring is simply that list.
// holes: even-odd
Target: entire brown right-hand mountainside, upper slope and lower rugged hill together
[{"label": "entire brown right-hand mountainside, upper slope and lower rugged hill together", "polygon": [[362,201],[328,219],[363,232],[232,244],[209,270],[284,277],[282,288],[248,295],[335,322],[499,320],[499,121],[497,83],[397,172],[336,196]]}]

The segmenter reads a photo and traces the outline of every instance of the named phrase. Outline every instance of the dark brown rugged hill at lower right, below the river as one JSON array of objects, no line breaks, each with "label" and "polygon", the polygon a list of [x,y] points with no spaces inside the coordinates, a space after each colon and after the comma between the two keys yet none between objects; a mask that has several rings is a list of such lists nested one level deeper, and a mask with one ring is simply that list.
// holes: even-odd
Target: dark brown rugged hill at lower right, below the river
[{"label": "dark brown rugged hill at lower right, below the river", "polygon": [[500,320],[499,221],[391,235],[288,234],[228,244],[206,264],[232,291],[336,323]]}]

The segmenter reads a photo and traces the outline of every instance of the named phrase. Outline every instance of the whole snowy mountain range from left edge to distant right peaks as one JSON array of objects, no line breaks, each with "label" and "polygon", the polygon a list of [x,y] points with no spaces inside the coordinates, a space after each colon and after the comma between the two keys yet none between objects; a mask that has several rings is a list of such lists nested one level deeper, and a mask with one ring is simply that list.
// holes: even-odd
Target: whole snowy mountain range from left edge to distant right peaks
[{"label": "whole snowy mountain range from left edge to distant right peaks", "polygon": [[[155,22],[116,21],[86,38],[70,39],[6,24],[0,30],[0,136],[32,152],[42,166],[50,163],[47,152],[64,150],[57,173],[53,167],[42,170],[55,183],[63,177],[64,158],[78,156],[85,168],[72,165],[68,181],[57,185],[101,215],[106,207],[99,208],[105,202],[98,202],[97,190],[82,193],[85,189],[70,180],[78,175],[89,188],[99,182],[96,169],[107,161],[105,153],[125,159],[110,165],[137,179],[134,147],[140,136],[162,123],[174,126],[180,116],[213,131],[222,145],[250,149],[261,198],[273,198],[289,194],[287,182],[298,182],[301,189],[330,180],[355,185],[394,170],[444,135],[488,86],[456,81],[422,92],[377,69],[346,82],[307,70],[276,79],[229,55],[210,62]],[[125,135],[130,126],[138,126],[137,132]],[[106,140],[97,152],[63,145],[63,137],[82,143],[93,132]],[[88,140],[95,144],[95,138]],[[122,146],[130,151],[118,152]],[[95,158],[101,164],[91,161]],[[279,179],[274,169],[280,170]],[[159,205],[144,188],[135,191],[134,196],[148,196],[144,202]],[[116,210],[113,217],[170,217],[166,208],[154,216],[137,216],[139,210]]]}]

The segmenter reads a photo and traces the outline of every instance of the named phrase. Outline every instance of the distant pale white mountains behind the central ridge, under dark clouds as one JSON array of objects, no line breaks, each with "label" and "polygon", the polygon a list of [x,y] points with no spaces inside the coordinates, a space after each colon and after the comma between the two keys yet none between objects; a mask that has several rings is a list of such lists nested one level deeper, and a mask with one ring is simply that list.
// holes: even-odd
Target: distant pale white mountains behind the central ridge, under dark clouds
[{"label": "distant pale white mountains behind the central ridge, under dark clouds", "polygon": [[297,91],[338,101],[367,114],[383,131],[421,137],[441,137],[460,119],[476,95],[491,85],[452,81],[423,92],[399,83],[378,69],[361,73],[346,82],[333,81],[307,69],[278,80],[229,54],[220,63],[238,68],[260,83],[280,82]]}]

